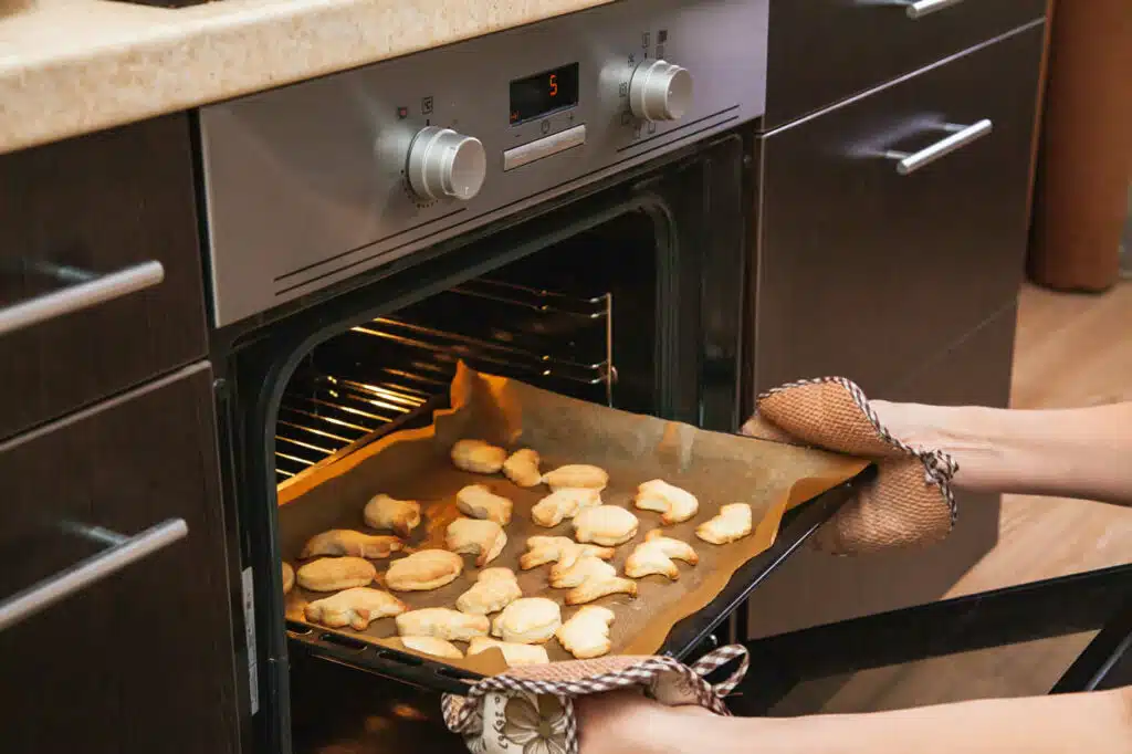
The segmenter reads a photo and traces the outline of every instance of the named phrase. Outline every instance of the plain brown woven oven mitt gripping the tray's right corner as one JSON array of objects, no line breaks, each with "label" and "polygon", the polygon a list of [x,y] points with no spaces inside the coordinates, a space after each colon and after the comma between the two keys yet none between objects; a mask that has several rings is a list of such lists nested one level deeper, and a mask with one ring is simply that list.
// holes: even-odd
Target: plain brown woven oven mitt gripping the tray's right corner
[{"label": "plain brown woven oven mitt gripping the tray's right corner", "polygon": [[889,434],[865,393],[843,377],[790,383],[758,396],[743,427],[763,439],[871,459],[876,478],[814,533],[835,555],[871,552],[943,539],[955,523],[951,480],[959,465],[938,449],[917,449]]}]

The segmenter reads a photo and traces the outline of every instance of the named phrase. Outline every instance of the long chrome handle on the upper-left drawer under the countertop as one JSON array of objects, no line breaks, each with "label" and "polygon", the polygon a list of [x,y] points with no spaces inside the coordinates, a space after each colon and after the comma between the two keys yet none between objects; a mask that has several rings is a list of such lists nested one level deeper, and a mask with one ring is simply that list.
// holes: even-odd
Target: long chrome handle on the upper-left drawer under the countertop
[{"label": "long chrome handle on the upper-left drawer under the countertop", "polygon": [[165,268],[160,262],[143,262],[85,283],[38,295],[31,301],[0,309],[0,335],[153,288],[163,280]]}]

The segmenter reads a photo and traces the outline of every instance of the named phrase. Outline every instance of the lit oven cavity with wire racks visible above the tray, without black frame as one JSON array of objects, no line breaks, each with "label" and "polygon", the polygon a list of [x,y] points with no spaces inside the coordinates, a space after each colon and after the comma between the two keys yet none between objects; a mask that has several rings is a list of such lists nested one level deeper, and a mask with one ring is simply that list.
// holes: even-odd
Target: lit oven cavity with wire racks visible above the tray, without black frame
[{"label": "lit oven cavity with wire racks visible above the tray, without black frame", "polygon": [[276,480],[428,423],[460,360],[655,413],[659,222],[627,212],[316,346],[280,402]]}]

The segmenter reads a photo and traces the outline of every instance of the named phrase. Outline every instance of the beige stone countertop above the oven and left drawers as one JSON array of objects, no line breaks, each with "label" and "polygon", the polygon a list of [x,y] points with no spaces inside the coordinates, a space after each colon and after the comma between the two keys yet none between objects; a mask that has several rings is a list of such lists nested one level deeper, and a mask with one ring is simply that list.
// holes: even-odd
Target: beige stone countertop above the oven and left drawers
[{"label": "beige stone countertop above the oven and left drawers", "polygon": [[610,0],[0,0],[0,153]]}]

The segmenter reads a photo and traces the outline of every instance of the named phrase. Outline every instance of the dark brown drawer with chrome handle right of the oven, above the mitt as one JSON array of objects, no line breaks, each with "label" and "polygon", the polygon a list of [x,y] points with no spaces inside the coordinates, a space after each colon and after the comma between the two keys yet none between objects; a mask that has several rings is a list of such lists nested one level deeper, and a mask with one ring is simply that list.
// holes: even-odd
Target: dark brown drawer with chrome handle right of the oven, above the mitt
[{"label": "dark brown drawer with chrome handle right of the oven, above the mitt", "polygon": [[884,392],[1015,299],[1041,43],[1019,32],[762,139],[756,389]]}]

